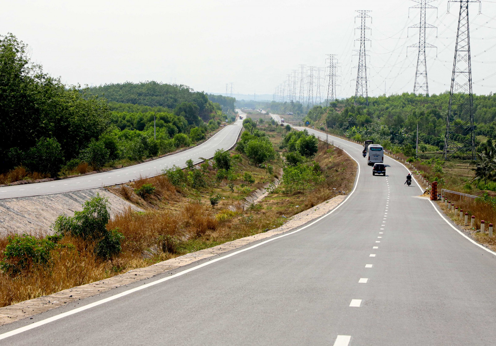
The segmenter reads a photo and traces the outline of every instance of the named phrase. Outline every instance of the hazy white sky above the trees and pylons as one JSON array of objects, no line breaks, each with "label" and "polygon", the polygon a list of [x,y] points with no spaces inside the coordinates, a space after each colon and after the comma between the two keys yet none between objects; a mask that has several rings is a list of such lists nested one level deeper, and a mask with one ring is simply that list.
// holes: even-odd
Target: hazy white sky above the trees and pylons
[{"label": "hazy white sky above the trees and pylons", "polygon": [[[195,90],[272,94],[299,64],[342,62],[340,96],[354,94],[356,9],[372,10],[370,95],[411,92],[418,41],[412,0],[4,1],[0,33],[30,45],[32,59],[67,84],[157,80]],[[449,89],[459,5],[428,11],[431,93]],[[496,3],[471,4],[474,91],[496,91]],[[356,34],[359,34],[358,30]],[[355,47],[358,48],[358,47]],[[484,53],[484,51],[486,51]],[[437,53],[437,58],[436,58]],[[484,62],[484,63],[483,63]],[[495,76],[491,76],[495,73]],[[485,80],[481,80],[481,79]],[[322,84],[325,82],[322,81]],[[481,86],[484,85],[484,86]],[[489,86],[489,87],[486,87]],[[322,87],[322,94],[324,94]]]}]

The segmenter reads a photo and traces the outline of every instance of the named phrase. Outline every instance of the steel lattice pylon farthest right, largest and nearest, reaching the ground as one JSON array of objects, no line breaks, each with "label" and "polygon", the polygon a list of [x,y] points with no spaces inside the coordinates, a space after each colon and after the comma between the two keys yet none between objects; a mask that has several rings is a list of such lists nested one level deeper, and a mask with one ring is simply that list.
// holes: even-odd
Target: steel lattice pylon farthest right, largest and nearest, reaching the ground
[{"label": "steel lattice pylon farthest right, largest and nearest, reaching the ground", "polygon": [[[444,134],[444,158],[459,152],[460,156],[475,160],[474,103],[472,95],[472,66],[470,62],[470,31],[468,4],[479,0],[451,0],[459,2],[455,57],[449,89],[448,115]],[[448,7],[449,9],[449,7]]]}]

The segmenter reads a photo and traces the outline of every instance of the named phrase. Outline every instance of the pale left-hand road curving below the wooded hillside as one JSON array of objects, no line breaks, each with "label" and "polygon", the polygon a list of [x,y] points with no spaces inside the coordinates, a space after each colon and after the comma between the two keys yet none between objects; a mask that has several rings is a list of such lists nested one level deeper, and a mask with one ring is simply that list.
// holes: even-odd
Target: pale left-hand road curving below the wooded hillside
[{"label": "pale left-hand road curving below the wooded hillside", "polygon": [[[240,114],[243,115],[243,112],[240,111]],[[197,164],[202,161],[200,157],[211,158],[217,149],[227,150],[233,147],[241,129],[242,121],[237,120],[234,124],[227,125],[212,138],[196,147],[178,154],[118,170],[82,175],[69,179],[0,187],[0,199],[86,190],[120,184],[140,177],[158,175],[164,168],[172,167],[173,165],[184,168],[186,167],[186,161],[189,159]]]}]

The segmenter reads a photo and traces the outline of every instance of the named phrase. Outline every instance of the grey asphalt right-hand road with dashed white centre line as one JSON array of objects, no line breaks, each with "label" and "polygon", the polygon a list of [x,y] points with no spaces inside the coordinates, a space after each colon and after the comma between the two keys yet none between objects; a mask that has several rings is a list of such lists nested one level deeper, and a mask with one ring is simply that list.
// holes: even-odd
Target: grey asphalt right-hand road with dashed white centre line
[{"label": "grey asphalt right-hand road with dashed white centre line", "polygon": [[360,173],[327,216],[2,326],[0,344],[495,345],[496,254],[404,185],[404,166],[384,157],[386,176],[372,176],[360,145],[329,138]]}]

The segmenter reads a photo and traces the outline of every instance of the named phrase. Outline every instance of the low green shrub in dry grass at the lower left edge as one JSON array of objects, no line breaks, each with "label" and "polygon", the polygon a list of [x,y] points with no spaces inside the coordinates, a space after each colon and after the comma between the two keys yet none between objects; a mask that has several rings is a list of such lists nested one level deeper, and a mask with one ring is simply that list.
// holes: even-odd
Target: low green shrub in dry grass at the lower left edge
[{"label": "low green shrub in dry grass at the lower left edge", "polygon": [[53,241],[36,239],[27,234],[9,235],[7,239],[0,269],[8,275],[17,275],[34,266],[46,265],[50,260],[50,250],[56,246]]}]

